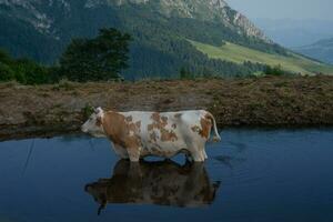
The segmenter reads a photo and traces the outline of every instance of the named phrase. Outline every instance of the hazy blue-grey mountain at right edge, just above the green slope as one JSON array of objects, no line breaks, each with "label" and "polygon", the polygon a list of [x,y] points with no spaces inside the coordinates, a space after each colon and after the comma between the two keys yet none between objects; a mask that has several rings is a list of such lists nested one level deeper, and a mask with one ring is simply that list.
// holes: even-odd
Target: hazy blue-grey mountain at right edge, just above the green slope
[{"label": "hazy blue-grey mountain at right edge, just above the green slope", "polygon": [[313,44],[299,47],[295,51],[333,64],[333,38],[320,40]]}]

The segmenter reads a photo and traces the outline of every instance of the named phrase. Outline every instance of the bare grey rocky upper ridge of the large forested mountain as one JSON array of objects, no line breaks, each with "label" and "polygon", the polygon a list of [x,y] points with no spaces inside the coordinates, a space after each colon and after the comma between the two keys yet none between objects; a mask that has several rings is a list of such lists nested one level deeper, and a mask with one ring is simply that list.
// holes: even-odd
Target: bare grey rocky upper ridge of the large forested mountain
[{"label": "bare grey rocky upper ridge of the large forested mountain", "polygon": [[[41,33],[54,33],[54,18],[47,8],[58,8],[70,13],[72,4],[73,0],[0,0],[0,7],[10,9],[13,17],[31,23]],[[240,34],[271,42],[246,17],[231,9],[224,0],[85,0],[82,4],[84,8],[143,4],[165,17],[222,22]]]}]

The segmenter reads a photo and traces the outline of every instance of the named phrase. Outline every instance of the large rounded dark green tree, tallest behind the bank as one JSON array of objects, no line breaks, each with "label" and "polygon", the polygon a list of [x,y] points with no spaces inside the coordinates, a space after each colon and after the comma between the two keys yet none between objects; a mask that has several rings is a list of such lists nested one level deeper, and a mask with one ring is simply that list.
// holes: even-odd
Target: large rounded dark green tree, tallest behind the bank
[{"label": "large rounded dark green tree, tallest behind the bank", "polygon": [[94,39],[73,39],[60,58],[60,75],[80,82],[119,79],[128,68],[130,40],[113,28]]}]

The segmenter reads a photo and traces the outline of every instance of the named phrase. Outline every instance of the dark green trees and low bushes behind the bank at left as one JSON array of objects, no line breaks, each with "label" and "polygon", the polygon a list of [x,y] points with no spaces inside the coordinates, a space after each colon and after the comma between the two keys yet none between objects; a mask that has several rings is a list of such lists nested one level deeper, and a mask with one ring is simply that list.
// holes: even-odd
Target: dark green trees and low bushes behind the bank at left
[{"label": "dark green trees and low bushes behind the bank at left", "polygon": [[59,65],[44,67],[29,59],[13,59],[0,51],[0,81],[22,84],[120,79],[128,67],[131,37],[117,29],[101,29],[94,39],[73,39],[60,58]]}]

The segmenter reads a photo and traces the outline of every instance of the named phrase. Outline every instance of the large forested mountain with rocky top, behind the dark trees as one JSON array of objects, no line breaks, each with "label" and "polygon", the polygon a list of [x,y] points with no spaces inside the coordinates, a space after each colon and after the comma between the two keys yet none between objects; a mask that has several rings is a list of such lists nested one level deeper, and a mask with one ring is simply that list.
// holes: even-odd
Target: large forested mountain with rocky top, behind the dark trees
[{"label": "large forested mountain with rocky top, behind the dark trees", "polygon": [[222,75],[264,69],[260,60],[210,57],[193,42],[294,57],[223,0],[0,0],[0,48],[49,64],[72,38],[91,38],[107,27],[129,32],[133,42],[128,79],[173,78],[181,68]]}]

